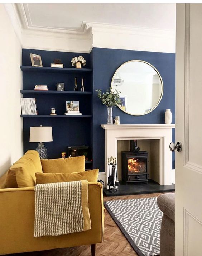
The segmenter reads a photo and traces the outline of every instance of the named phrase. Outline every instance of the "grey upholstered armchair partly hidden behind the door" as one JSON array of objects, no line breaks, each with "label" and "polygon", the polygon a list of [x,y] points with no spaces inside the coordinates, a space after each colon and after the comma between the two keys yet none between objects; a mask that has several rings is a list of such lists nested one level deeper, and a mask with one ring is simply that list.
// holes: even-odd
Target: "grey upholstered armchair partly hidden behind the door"
[{"label": "grey upholstered armchair partly hidden behind the door", "polygon": [[175,255],[175,194],[167,193],[157,198],[163,212],[160,230],[160,256]]}]

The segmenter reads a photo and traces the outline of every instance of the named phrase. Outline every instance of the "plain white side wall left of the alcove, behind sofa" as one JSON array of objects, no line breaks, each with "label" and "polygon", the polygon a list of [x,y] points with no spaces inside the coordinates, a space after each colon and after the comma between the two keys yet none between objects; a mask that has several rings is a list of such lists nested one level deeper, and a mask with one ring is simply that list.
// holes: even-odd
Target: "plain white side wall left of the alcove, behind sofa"
[{"label": "plain white side wall left of the alcove, behind sofa", "polygon": [[21,46],[3,4],[0,4],[0,176],[23,154],[20,118]]}]

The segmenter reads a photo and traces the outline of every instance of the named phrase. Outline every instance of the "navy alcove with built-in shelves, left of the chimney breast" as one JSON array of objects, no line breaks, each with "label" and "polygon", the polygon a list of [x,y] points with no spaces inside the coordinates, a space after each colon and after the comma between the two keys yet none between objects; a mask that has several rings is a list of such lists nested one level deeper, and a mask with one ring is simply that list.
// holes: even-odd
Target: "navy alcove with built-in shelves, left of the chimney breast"
[{"label": "navy alcove with built-in shelves, left of the chimney breast", "polygon": [[[30,53],[42,58],[43,67],[32,67]],[[77,69],[71,66],[72,57],[82,55],[86,59],[87,68]],[[59,57],[58,57],[59,56]],[[61,58],[64,68],[52,68],[54,58]],[[52,126],[53,142],[45,143],[48,158],[60,158],[67,152],[68,146],[90,146],[92,150],[92,94],[93,70],[90,68],[89,54],[53,52],[40,50],[22,50],[24,98],[35,98],[38,115],[21,115],[23,117],[24,152],[37,147],[37,143],[29,142],[29,131],[32,126]],[[89,68],[88,68],[89,67]],[[78,91],[74,91],[77,78]],[[81,91],[84,79],[85,91]],[[64,82],[65,91],[57,91],[56,83]],[[48,91],[35,91],[35,85],[47,85]],[[65,115],[66,101],[79,101],[82,115]],[[51,108],[56,108],[57,115],[50,115]],[[92,168],[92,161],[86,161],[86,167]]]}]

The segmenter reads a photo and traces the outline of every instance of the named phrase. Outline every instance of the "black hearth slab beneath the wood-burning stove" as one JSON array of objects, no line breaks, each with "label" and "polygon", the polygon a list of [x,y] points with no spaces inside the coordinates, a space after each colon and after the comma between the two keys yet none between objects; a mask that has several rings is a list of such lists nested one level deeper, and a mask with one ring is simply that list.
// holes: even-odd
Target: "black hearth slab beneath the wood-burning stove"
[{"label": "black hearth slab beneath the wood-burning stove", "polygon": [[175,184],[172,185],[159,185],[153,180],[149,180],[149,183],[130,183],[128,185],[121,184],[119,190],[111,193],[106,188],[103,188],[106,196],[119,196],[119,195],[136,195],[136,194],[150,194],[160,192],[173,192],[175,191]]}]

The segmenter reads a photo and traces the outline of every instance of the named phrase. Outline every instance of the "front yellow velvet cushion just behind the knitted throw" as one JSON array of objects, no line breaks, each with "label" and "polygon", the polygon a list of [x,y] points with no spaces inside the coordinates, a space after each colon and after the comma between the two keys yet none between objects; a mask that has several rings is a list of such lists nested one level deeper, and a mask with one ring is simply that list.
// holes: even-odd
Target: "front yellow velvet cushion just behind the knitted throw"
[{"label": "front yellow velvet cushion just behind the knitted throw", "polygon": [[87,180],[97,182],[98,169],[72,173],[35,173],[37,184]]}]

